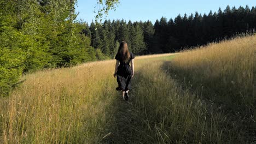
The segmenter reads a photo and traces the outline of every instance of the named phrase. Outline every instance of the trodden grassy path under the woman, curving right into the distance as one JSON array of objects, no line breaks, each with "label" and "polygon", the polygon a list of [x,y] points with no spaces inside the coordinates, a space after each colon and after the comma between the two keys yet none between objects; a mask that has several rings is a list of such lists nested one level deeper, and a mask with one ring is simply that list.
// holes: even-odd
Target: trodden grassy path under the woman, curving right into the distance
[{"label": "trodden grassy path under the woman, curving right into the distance", "polygon": [[[114,96],[115,99],[111,104],[111,109],[109,109],[109,115],[113,117],[109,119],[107,131],[105,132],[106,135],[101,143],[145,143],[146,141],[150,142],[147,139],[155,139],[147,133],[148,131],[145,131],[145,129],[148,129],[148,125],[146,121],[144,121],[146,117],[143,118],[142,116],[146,111],[144,111],[143,106],[139,105],[142,97],[147,98],[147,95],[145,95],[147,92],[142,94],[140,91],[141,87],[145,87],[146,84],[143,81],[147,81],[147,79],[144,79],[142,69],[152,66],[152,68],[156,68],[154,67],[154,63],[162,65],[164,61],[170,61],[173,57],[174,56],[164,56],[153,58],[150,60],[150,63],[146,63],[146,61],[139,62],[139,65],[143,66],[137,67],[135,77],[133,77],[132,80],[133,88],[129,93],[129,101],[124,101],[121,98],[121,93],[116,93]],[[156,73],[154,74],[157,75]],[[152,78],[154,79],[154,77]]]}]

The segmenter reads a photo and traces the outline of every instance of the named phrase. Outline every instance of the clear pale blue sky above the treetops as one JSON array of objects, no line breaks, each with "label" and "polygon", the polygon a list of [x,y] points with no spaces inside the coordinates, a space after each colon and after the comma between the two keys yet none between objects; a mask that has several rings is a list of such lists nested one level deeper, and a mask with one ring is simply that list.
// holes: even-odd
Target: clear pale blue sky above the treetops
[{"label": "clear pale blue sky above the treetops", "polygon": [[[98,8],[96,0],[78,0],[77,5],[76,11],[79,12],[77,19],[89,23],[95,19],[93,11]],[[252,6],[255,7],[256,2],[254,0],[120,0],[117,10],[110,11],[106,19],[150,20],[155,22],[156,19],[160,19],[162,16],[170,19],[178,14],[194,14],[195,11],[208,14],[210,10],[218,11],[219,7],[224,10],[226,5],[230,5],[231,8],[248,5],[252,8]]]}]

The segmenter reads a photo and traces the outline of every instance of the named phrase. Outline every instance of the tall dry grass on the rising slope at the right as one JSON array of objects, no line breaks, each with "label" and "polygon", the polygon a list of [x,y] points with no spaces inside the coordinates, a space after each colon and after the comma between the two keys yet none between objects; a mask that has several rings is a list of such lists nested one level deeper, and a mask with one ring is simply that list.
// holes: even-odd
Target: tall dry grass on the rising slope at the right
[{"label": "tall dry grass on the rising slope at the right", "polygon": [[224,136],[236,125],[233,143],[256,141],[255,50],[256,35],[247,35],[185,50],[165,64],[183,89],[199,95],[207,107],[214,104],[223,110],[230,124]]}]

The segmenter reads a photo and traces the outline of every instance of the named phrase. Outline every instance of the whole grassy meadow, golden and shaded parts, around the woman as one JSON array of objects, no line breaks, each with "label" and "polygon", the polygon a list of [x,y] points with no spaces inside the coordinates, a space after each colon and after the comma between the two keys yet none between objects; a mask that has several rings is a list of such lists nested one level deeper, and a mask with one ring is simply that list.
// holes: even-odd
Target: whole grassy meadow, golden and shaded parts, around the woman
[{"label": "whole grassy meadow, golden and shaded parts, around the woman", "polygon": [[135,58],[128,102],[114,60],[48,69],[0,98],[0,143],[253,143],[256,36]]}]

